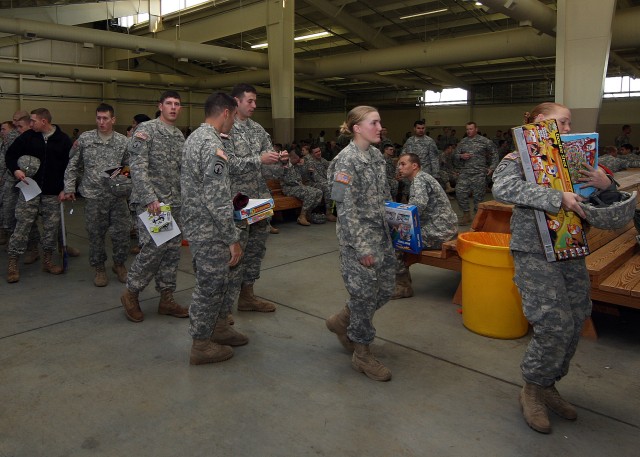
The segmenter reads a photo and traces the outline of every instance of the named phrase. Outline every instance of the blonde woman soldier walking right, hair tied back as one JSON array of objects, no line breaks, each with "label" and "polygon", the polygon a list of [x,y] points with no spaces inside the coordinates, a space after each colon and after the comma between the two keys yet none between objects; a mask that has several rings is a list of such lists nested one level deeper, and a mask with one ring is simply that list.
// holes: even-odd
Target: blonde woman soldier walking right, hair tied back
[{"label": "blonde woman soldier walking right, hair tied back", "polygon": [[336,233],[340,270],[349,300],[326,321],[345,349],[353,352],[351,366],[376,381],[391,379],[391,371],[369,348],[376,334],[373,316],[393,294],[395,255],[385,222],[389,185],[382,154],[372,145],[380,141],[380,114],[358,106],[347,115],[341,133],[353,140],[331,162],[331,198],[338,209]]}]

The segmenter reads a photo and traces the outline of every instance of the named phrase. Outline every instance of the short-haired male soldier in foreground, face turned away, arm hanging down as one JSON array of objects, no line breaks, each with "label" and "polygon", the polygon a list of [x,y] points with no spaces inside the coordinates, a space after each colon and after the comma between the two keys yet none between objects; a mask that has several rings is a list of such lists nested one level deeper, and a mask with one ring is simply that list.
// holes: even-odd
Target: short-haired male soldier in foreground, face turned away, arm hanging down
[{"label": "short-haired male soldier in foreground, face turned away, arm hanging down", "polygon": [[229,269],[240,261],[240,232],[233,221],[228,159],[221,134],[233,127],[235,99],[218,92],[204,106],[205,120],[185,141],[182,155],[183,226],[193,256],[196,286],[189,307],[190,363],[228,360],[231,346],[249,339],[227,322]]}]

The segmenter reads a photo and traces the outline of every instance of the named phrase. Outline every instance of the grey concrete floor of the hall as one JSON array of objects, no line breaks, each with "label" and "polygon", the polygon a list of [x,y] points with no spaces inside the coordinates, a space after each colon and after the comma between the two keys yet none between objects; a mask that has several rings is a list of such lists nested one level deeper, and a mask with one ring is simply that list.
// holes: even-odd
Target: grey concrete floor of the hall
[{"label": "grey concrete floor of the hall", "polygon": [[[68,205],[67,205],[68,206]],[[324,320],[347,297],[335,224],[278,224],[256,293],[274,314],[236,313],[250,337],[224,363],[190,366],[187,320],[124,317],[123,286],[96,288],[82,203],[67,214],[82,250],[68,272],[21,267],[0,281],[0,457],[54,456],[636,456],[640,337],[636,315],[596,320],[559,390],[578,407],[538,434],[520,413],[519,362],[528,337],[468,331],[451,304],[458,273],[412,267],[415,296],[376,315],[373,350],[393,372],[355,372]],[[2,274],[6,253],[0,251]],[[110,264],[109,264],[110,267]],[[178,292],[194,285],[183,248]]]}]

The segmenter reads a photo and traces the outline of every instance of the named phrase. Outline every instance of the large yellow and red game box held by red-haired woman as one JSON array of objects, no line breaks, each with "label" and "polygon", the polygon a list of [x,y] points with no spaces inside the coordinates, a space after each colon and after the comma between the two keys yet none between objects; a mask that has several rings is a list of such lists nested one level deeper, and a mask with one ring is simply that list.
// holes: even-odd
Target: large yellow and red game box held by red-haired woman
[{"label": "large yellow and red game box held by red-haired woman", "polygon": [[[563,192],[573,192],[569,165],[554,119],[511,129],[529,182]],[[558,214],[534,210],[544,253],[549,262],[589,254],[580,216],[560,208]]]}]

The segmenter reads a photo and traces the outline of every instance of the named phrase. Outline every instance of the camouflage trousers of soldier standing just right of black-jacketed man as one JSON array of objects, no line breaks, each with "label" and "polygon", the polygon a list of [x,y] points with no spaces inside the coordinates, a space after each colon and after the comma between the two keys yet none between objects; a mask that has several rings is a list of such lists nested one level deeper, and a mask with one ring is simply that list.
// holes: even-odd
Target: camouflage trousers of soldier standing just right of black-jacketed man
[{"label": "camouflage trousers of soldier standing just right of black-jacketed man", "polygon": [[84,209],[85,226],[89,234],[89,264],[92,267],[107,261],[104,239],[107,231],[113,245],[113,262],[123,264],[129,255],[131,216],[127,201],[106,194],[102,198],[87,198]]}]

